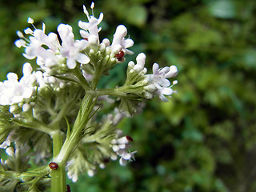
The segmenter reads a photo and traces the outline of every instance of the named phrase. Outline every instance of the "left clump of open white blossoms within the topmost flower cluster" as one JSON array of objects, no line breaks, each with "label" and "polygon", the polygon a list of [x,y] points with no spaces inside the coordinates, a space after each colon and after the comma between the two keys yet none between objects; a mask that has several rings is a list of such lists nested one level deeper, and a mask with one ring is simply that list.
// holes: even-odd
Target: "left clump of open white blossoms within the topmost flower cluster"
[{"label": "left clump of open white blossoms within the topmost flower cluster", "polygon": [[[28,19],[31,23],[30,19]],[[69,25],[60,24],[58,26],[58,34],[62,40],[62,43],[58,41],[58,35],[50,33],[45,34],[46,26],[42,25],[42,30],[36,29],[25,30],[25,34],[30,34],[29,39],[23,38],[23,34],[18,32],[19,39],[15,42],[18,47],[25,47],[25,54],[28,59],[37,59],[37,63],[43,70],[50,70],[53,66],[61,66],[63,62],[66,62],[66,66],[69,69],[74,69],[76,62],[86,64],[90,62],[90,58],[86,54],[82,53],[82,50],[86,49],[88,42],[85,40],[74,40],[74,34],[72,27]]]}]

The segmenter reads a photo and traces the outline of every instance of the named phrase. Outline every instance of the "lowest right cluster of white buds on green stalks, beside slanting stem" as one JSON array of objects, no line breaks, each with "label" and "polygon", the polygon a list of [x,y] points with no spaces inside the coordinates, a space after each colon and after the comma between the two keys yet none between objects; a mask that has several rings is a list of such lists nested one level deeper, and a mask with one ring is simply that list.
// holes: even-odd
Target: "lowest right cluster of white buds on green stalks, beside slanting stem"
[{"label": "lowest right cluster of white buds on green stalks, beside slanting stem", "polygon": [[[129,150],[133,138],[128,135],[123,136],[122,130],[115,127],[125,116],[126,114],[115,109],[114,114],[107,115],[105,121],[100,124],[101,128],[95,134],[82,138],[82,144],[89,144],[91,147],[84,151],[81,148],[76,150],[67,162],[67,176],[73,182],[77,182],[78,175],[85,171],[90,177],[94,176],[97,166],[104,169],[110,159],[115,161],[119,157],[119,163],[122,166],[134,160],[134,154],[137,151],[130,152]],[[93,147],[96,147],[97,151],[90,153]]]}]

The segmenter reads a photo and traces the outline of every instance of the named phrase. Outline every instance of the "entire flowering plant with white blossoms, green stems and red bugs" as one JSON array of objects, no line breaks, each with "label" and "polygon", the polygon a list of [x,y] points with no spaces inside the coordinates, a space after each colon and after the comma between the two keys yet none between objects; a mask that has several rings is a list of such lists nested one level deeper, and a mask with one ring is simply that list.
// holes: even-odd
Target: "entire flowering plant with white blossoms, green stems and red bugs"
[{"label": "entire flowering plant with white blossoms, green stems and red bugs", "polygon": [[[94,8],[94,2],[91,9]],[[125,117],[142,111],[154,97],[163,102],[175,93],[170,82],[176,66],[159,69],[153,74],[144,67],[146,55],[138,54],[129,62],[126,82],[122,86],[99,89],[98,82],[114,66],[125,62],[134,45],[125,38],[126,27],[117,27],[112,42],[98,36],[103,14],[98,18],[83,7],[88,22],[78,22],[82,39],[74,40],[72,27],[58,26],[58,34],[45,34],[46,26],[37,29],[32,18],[15,42],[25,47],[27,59],[36,59],[38,68],[23,65],[23,76],[7,74],[0,82],[0,144],[8,158],[1,159],[1,191],[70,190],[66,175],[77,182],[79,174],[96,173],[109,160],[119,159],[122,166],[134,160],[130,151],[133,138],[118,129]],[[100,113],[108,107],[109,114]]]}]

